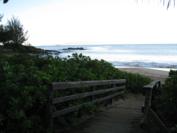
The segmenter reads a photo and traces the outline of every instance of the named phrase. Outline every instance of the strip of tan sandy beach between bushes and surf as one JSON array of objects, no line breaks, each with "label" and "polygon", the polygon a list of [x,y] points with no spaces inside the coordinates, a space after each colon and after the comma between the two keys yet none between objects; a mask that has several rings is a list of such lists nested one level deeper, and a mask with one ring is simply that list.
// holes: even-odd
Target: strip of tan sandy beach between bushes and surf
[{"label": "strip of tan sandy beach between bushes and surf", "polygon": [[168,77],[168,71],[162,70],[154,70],[148,68],[119,68],[119,70],[130,72],[130,73],[138,73],[152,78],[153,80],[161,80],[165,81]]}]

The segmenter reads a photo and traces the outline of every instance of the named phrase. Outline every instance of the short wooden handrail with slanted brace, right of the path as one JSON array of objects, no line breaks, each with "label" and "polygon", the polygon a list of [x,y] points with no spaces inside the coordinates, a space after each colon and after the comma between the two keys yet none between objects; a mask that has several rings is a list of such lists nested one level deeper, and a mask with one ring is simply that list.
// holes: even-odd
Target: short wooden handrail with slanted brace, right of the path
[{"label": "short wooden handrail with slanted brace, right of the path", "polygon": [[166,125],[162,122],[162,120],[159,118],[159,116],[155,113],[155,111],[152,109],[152,99],[153,99],[153,93],[156,89],[159,89],[161,87],[160,81],[153,81],[148,85],[145,85],[143,87],[145,91],[145,102],[144,102],[144,118],[142,120],[142,125],[148,125],[152,124],[151,117],[155,120],[156,124],[159,126],[159,130],[162,133],[170,133],[169,129],[166,127]]}]

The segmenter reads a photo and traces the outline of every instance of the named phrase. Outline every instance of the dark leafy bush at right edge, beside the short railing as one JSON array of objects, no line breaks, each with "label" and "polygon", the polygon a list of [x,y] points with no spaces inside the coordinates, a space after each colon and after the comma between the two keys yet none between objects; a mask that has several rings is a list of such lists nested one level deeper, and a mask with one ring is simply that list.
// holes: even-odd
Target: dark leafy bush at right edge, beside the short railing
[{"label": "dark leafy bush at right edge, beside the short railing", "polygon": [[164,123],[177,132],[177,71],[170,71],[160,95],[156,96],[154,108]]}]

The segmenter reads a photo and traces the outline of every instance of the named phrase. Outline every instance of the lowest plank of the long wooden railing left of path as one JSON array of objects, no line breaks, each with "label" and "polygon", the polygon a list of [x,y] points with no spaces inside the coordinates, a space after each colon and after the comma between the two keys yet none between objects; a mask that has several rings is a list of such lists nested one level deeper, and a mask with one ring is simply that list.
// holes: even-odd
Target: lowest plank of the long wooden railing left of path
[{"label": "lowest plank of the long wooden railing left of path", "polygon": [[53,115],[52,117],[57,117],[57,116],[61,116],[61,115],[65,115],[65,114],[68,114],[68,113],[71,113],[71,112],[74,112],[74,111],[77,111],[79,110],[81,107],[85,106],[85,105],[89,105],[89,104],[94,104],[94,103],[100,103],[100,102],[103,102],[105,100],[108,100],[108,99],[111,99],[113,97],[116,97],[118,95],[122,95],[124,93],[124,91],[121,91],[121,92],[116,92],[112,95],[109,95],[109,96],[106,96],[106,97],[103,97],[103,98],[99,98],[99,99],[96,99],[92,102],[87,102],[87,103],[83,103],[83,104],[80,104],[80,105],[76,105],[76,106],[72,106],[72,107],[68,107],[68,108],[65,108],[63,110],[59,110],[59,111],[56,111],[56,112],[53,112]]}]

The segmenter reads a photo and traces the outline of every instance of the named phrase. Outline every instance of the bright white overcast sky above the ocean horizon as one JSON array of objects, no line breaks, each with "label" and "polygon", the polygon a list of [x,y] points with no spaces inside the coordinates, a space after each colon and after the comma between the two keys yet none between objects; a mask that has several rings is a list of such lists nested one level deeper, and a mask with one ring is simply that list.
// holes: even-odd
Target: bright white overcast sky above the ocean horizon
[{"label": "bright white overcast sky above the ocean horizon", "polygon": [[10,0],[0,13],[18,17],[32,45],[177,43],[177,7],[160,0]]}]

